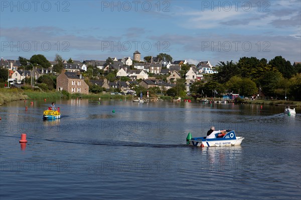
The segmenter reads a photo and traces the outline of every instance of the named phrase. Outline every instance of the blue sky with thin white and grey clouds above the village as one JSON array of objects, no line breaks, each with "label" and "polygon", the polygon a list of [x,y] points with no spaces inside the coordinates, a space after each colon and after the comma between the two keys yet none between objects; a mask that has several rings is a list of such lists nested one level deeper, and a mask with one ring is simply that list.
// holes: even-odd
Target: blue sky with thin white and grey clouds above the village
[{"label": "blue sky with thin white and grey clouds above the village", "polygon": [[301,62],[301,1],[0,1],[1,57]]}]

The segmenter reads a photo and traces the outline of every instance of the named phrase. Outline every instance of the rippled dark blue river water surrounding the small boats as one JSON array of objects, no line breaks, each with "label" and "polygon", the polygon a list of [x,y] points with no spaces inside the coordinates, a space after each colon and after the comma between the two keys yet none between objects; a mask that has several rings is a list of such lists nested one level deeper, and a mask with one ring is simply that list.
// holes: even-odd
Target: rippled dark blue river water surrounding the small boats
[{"label": "rippled dark blue river water surrounding the small boats", "polygon": [[[30,103],[0,107],[2,200],[301,198],[301,114],[284,107],[57,100],[43,121],[50,101]],[[245,139],[186,145],[212,125]]]}]

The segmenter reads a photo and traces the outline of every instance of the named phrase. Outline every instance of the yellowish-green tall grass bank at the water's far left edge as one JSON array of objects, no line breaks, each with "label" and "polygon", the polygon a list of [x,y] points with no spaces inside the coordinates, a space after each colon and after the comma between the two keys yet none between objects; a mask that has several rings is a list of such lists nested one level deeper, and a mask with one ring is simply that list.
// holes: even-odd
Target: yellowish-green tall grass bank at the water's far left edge
[{"label": "yellowish-green tall grass bank at the water's far left edge", "polygon": [[0,88],[0,105],[16,100],[25,100],[29,97],[24,93],[23,90],[14,88]]}]

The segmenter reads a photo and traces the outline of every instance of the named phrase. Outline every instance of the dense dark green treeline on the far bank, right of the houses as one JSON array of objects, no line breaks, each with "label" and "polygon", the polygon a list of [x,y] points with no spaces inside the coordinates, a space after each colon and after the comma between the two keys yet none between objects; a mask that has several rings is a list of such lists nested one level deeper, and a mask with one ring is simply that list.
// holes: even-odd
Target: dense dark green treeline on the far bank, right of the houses
[{"label": "dense dark green treeline on the far bank, right of the houses", "polygon": [[255,57],[240,58],[233,61],[219,62],[218,73],[210,75],[207,82],[196,82],[191,86],[195,95],[205,94],[209,97],[225,93],[239,93],[241,96],[257,96],[261,98],[301,100],[301,64],[292,66],[281,56],[267,62]]}]

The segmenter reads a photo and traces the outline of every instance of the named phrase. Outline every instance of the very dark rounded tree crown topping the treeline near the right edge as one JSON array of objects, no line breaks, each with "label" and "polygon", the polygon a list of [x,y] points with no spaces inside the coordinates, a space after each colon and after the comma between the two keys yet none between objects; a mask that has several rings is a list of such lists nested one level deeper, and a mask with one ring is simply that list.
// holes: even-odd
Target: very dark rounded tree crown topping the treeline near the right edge
[{"label": "very dark rounded tree crown topping the treeline near the right edge", "polygon": [[294,73],[294,69],[289,61],[286,61],[282,56],[276,56],[268,62],[272,67],[278,69],[284,78],[291,78]]}]

